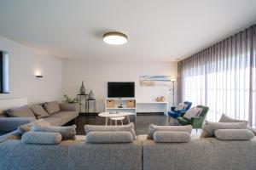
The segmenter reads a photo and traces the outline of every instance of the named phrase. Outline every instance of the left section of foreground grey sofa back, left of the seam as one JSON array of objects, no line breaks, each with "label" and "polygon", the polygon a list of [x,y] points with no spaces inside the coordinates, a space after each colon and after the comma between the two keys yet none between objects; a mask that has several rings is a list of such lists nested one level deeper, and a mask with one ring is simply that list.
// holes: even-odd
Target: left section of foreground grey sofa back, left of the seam
[{"label": "left section of foreground grey sofa back, left of the seam", "polygon": [[87,144],[79,139],[25,144],[14,132],[0,137],[0,157],[1,170],[143,169],[143,146],[138,140],[126,144]]}]

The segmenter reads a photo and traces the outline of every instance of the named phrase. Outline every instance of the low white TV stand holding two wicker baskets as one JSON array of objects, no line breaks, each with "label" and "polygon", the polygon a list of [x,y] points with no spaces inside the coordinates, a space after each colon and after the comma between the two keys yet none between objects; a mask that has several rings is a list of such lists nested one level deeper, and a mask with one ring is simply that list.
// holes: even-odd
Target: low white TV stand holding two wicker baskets
[{"label": "low white TV stand holding two wicker baskets", "polygon": [[137,116],[136,99],[134,98],[108,98],[105,99],[106,112],[131,112]]}]

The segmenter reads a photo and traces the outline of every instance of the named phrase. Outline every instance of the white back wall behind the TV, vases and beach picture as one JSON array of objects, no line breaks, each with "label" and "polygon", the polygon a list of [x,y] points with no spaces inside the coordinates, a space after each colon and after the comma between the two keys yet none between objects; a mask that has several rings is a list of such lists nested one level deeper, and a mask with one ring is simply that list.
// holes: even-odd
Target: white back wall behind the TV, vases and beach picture
[{"label": "white back wall behind the TV, vases and beach picture", "polygon": [[[136,82],[137,101],[154,101],[160,95],[172,104],[166,87],[140,87],[140,76],[166,75],[177,77],[176,62],[65,60],[63,63],[63,94],[75,97],[84,81],[86,93],[93,90],[97,111],[104,110],[107,82]],[[177,97],[175,97],[177,99]]]}]

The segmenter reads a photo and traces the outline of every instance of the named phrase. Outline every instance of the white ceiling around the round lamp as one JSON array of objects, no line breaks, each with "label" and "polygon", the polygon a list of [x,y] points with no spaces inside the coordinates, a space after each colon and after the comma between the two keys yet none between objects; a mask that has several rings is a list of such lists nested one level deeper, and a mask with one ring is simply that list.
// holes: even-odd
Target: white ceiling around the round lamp
[{"label": "white ceiling around the round lamp", "polygon": [[[173,61],[253,25],[255,0],[6,0],[0,36],[64,59]],[[121,31],[128,42],[102,41]]]}]

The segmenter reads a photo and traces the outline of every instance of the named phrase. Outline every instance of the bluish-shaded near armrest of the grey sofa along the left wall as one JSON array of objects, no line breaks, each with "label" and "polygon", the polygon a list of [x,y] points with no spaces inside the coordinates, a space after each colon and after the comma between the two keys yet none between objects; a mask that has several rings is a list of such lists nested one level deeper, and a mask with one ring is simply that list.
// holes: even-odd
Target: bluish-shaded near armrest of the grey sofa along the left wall
[{"label": "bluish-shaded near armrest of the grey sofa along the left wall", "polygon": [[21,125],[29,122],[34,122],[34,117],[0,117],[0,131],[13,132]]}]

